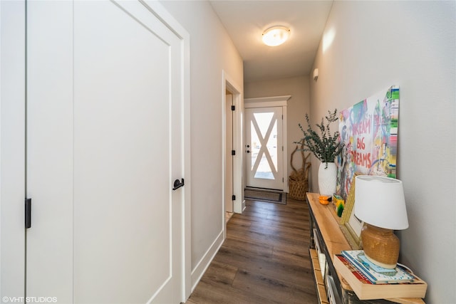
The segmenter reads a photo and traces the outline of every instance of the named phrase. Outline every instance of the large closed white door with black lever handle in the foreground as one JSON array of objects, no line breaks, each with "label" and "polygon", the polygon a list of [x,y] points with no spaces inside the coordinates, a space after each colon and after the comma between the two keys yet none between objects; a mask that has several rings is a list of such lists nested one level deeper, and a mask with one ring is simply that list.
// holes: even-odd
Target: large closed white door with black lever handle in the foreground
[{"label": "large closed white door with black lever handle in the foreground", "polygon": [[27,25],[26,295],[180,303],[180,38],[139,1],[31,1]]}]

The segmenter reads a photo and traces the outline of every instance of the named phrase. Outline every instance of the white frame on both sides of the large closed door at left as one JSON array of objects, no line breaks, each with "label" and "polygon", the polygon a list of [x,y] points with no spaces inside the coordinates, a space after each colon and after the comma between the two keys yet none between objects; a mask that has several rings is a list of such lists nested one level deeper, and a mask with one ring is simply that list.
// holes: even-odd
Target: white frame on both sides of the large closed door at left
[{"label": "white frame on both sides of the large closed door at left", "polygon": [[[183,46],[182,149],[185,150],[185,189],[181,231],[182,282],[179,292],[181,302],[185,303],[192,291],[190,34],[162,4],[148,0],[145,4],[152,14],[159,16],[172,29]],[[0,293],[1,296],[25,296],[26,1],[0,1],[0,16]]]}]

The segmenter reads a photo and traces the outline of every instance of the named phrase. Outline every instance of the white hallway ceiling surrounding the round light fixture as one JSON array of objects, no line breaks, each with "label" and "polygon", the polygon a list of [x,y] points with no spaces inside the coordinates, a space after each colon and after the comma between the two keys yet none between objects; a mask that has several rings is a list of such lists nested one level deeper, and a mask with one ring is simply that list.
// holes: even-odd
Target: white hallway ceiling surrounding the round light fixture
[{"label": "white hallway ceiling surrounding the round light fixture", "polygon": [[[333,1],[209,1],[244,60],[244,82],[309,75]],[[265,46],[271,26],[290,28],[281,46]]]}]

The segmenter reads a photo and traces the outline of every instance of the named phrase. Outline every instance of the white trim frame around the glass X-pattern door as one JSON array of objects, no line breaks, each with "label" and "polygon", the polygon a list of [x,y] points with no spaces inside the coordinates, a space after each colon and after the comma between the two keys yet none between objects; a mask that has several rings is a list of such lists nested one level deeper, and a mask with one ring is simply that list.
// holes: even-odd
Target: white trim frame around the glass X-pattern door
[{"label": "white trim frame around the glass X-pattern door", "polygon": [[[291,95],[284,95],[284,96],[274,96],[274,97],[260,97],[260,98],[245,98],[244,99],[244,109],[249,108],[271,108],[271,107],[281,107],[282,108],[282,115],[284,115],[284,119],[282,120],[282,143],[284,147],[284,151],[282,153],[282,176],[284,177],[284,192],[289,192],[289,185],[288,185],[288,139],[287,139],[287,120],[286,120],[286,108],[288,105],[288,100],[291,98]],[[247,122],[244,122],[247,123]],[[244,135],[244,138],[247,138],[247,135]],[[247,165],[244,166],[244,172],[247,174]]]}]

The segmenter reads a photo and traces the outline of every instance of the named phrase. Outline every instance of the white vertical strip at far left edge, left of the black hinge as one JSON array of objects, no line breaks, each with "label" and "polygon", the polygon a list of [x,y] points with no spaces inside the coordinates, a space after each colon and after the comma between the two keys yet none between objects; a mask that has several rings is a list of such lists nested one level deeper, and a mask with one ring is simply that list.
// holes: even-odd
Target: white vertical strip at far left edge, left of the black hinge
[{"label": "white vertical strip at far left edge, left of the black hinge", "polygon": [[[0,1],[0,298],[24,296],[25,3]],[[3,298],[6,297],[6,300]]]}]

